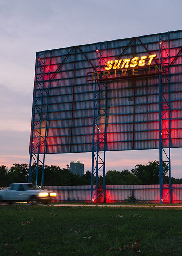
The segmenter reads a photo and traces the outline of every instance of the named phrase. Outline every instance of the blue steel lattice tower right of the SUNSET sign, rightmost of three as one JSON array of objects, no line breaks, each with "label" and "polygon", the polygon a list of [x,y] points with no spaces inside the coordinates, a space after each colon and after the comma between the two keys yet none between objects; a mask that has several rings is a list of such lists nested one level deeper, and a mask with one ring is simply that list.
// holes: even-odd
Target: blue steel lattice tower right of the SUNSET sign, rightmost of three
[{"label": "blue steel lattice tower right of the SUNSET sign, rightmost of three", "polygon": [[[163,39],[167,36],[168,49],[165,48],[163,44]],[[163,57],[162,50],[167,56]],[[166,71],[167,67],[167,71]],[[167,93],[165,89],[167,88]],[[166,119],[165,115],[168,115]],[[168,124],[165,121],[168,121]],[[167,143],[167,146],[165,145]],[[168,153],[165,148],[168,149]],[[169,33],[161,34],[159,40],[159,178],[160,178],[160,201],[159,203],[165,200],[166,196],[169,194],[169,202],[172,202],[172,189],[171,189],[171,109],[170,109],[170,41]],[[163,153],[165,158],[164,161]],[[166,163],[166,166],[163,166],[163,163]],[[163,173],[166,170],[166,167],[169,168],[169,191],[163,197]],[[166,183],[167,184],[167,183]]]}]

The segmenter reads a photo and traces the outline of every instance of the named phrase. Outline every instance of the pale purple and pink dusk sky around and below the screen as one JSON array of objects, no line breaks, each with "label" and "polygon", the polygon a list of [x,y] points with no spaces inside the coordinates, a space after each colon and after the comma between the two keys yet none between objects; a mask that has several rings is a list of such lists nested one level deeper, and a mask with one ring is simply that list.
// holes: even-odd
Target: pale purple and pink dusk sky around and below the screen
[{"label": "pale purple and pink dusk sky around and below the screen", "polygon": [[[182,29],[181,0],[0,0],[0,165],[29,163],[37,51]],[[65,167],[91,153],[46,155]],[[106,171],[159,160],[159,150],[106,153]],[[171,176],[182,178],[182,148],[171,150]]]}]

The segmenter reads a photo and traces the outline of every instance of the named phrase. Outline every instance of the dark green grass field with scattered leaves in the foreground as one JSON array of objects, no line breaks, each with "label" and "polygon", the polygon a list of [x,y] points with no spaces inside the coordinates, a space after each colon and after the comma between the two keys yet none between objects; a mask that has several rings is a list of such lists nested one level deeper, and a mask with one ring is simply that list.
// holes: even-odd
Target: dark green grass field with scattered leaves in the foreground
[{"label": "dark green grass field with scattered leaves in the foreground", "polygon": [[0,206],[0,255],[182,255],[182,208]]}]

